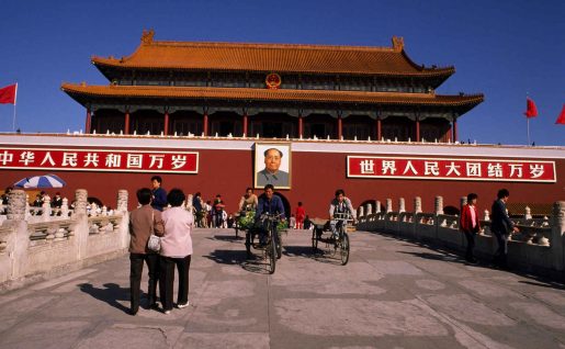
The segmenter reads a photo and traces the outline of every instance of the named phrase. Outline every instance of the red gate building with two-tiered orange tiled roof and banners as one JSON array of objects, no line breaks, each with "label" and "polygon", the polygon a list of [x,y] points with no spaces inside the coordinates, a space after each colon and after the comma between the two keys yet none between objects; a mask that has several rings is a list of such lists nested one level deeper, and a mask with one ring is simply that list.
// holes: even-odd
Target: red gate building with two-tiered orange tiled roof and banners
[{"label": "red gate building with two-tiered orange tiled roof and banners", "polygon": [[[564,199],[563,147],[460,144],[457,120],[484,95],[436,93],[455,69],[417,64],[392,42],[169,42],[144,31],[132,55],[91,58],[108,85],[61,86],[84,106],[83,134],[0,135],[2,182],[53,172],[69,198],[87,189],[114,206],[127,189],[134,207],[160,174],[168,190],[222,194],[233,213],[247,187],[273,180],[292,212],[302,201],[319,217],[339,188],[355,206],[405,198],[407,211],[415,196],[423,211],[437,195],[459,207],[468,192],[489,209],[500,188],[512,202]],[[263,178],[271,148],[279,177]]]}]

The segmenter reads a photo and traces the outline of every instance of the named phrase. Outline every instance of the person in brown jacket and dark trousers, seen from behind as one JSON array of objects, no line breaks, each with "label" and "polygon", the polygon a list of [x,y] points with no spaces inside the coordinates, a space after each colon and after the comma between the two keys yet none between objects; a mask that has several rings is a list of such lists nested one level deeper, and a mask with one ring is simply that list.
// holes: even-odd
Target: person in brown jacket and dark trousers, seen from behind
[{"label": "person in brown jacket and dark trousers, seen from behind", "polygon": [[148,248],[151,235],[160,236],[163,233],[161,213],[151,207],[151,190],[142,188],[137,191],[137,201],[142,205],[129,214],[129,290],[131,314],[136,315],[139,309],[139,293],[142,286],[142,272],[144,261],[149,269],[149,307],[157,305],[157,280],[159,279],[159,254]]}]

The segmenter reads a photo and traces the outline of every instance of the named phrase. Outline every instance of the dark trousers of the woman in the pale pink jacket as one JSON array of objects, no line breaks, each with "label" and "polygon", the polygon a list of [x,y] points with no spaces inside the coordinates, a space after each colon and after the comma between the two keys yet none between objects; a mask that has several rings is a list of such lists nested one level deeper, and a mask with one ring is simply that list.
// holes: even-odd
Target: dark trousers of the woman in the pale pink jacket
[{"label": "dark trousers of the woman in the pale pink jacket", "polygon": [[161,256],[159,291],[163,311],[172,309],[172,294],[174,288],[174,266],[179,272],[179,292],[177,293],[177,304],[189,302],[189,271],[191,256],[184,258],[172,258]]}]

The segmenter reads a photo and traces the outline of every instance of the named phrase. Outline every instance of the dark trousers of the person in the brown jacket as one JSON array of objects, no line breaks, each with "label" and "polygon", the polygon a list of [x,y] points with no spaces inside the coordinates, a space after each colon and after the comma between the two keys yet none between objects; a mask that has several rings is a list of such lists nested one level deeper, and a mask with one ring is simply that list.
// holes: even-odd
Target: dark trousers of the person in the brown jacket
[{"label": "dark trousers of the person in the brown jacket", "polygon": [[149,269],[149,282],[147,285],[147,294],[149,295],[149,305],[157,300],[157,281],[159,280],[159,255],[157,254],[129,254],[129,291],[131,291],[131,309],[132,314],[136,314],[139,309],[139,293],[142,289],[142,273],[144,271],[144,261]]}]

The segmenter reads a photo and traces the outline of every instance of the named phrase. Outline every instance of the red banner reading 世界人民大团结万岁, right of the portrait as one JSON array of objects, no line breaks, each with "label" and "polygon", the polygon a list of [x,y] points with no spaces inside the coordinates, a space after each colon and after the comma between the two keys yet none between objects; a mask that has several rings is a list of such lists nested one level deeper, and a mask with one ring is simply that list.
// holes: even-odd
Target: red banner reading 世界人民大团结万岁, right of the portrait
[{"label": "red banner reading \u4e16\u754c\u4eba\u6c11\u5927\u56e2\u7ed3\u4e07\u5c81, right of the portrait", "polygon": [[350,178],[555,182],[555,161],[348,156]]}]

